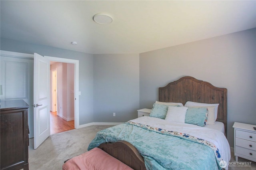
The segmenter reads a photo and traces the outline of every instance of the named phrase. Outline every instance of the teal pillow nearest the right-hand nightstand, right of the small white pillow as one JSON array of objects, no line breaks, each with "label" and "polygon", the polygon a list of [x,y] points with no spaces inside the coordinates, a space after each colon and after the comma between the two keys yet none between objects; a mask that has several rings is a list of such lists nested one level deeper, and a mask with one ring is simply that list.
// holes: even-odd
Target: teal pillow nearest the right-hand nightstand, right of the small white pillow
[{"label": "teal pillow nearest the right-hand nightstand, right of the small white pillow", "polygon": [[208,119],[208,110],[205,107],[188,107],[185,123],[204,127]]}]

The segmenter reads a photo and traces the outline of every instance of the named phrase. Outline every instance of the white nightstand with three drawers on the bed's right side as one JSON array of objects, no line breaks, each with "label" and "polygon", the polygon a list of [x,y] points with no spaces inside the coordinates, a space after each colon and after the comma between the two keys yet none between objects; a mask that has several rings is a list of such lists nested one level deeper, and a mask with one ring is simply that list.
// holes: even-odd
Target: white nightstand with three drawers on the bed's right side
[{"label": "white nightstand with three drawers on the bed's right side", "polygon": [[235,122],[234,128],[234,149],[236,162],[238,156],[256,162],[256,130],[245,123]]}]

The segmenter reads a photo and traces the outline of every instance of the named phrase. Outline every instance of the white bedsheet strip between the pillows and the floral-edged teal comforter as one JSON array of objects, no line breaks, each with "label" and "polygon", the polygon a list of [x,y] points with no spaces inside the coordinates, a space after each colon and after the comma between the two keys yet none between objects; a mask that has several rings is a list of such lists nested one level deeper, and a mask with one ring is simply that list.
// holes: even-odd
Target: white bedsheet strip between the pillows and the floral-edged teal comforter
[{"label": "white bedsheet strip between the pillows and the floral-edged teal comforter", "polygon": [[[199,127],[197,125],[186,124],[186,123],[167,123],[164,119],[159,119],[155,117],[139,117],[137,119],[130,120],[132,122],[141,123],[144,125],[150,125],[152,127],[163,128],[166,130],[173,130],[176,132],[182,132],[186,134],[190,134],[192,136],[202,138],[204,140],[208,140],[215,144],[215,146],[219,149],[220,155],[222,159],[226,161],[228,169],[228,162],[230,161],[230,146],[228,144],[228,140],[224,133],[220,130],[216,130],[214,128],[209,127]],[[218,124],[218,123],[217,123]],[[218,125],[217,125],[218,126]]]}]

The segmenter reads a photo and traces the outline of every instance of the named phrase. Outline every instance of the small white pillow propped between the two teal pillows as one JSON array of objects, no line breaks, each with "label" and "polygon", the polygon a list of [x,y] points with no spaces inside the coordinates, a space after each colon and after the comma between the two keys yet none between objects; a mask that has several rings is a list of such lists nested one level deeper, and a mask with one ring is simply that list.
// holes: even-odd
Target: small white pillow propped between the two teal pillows
[{"label": "small white pillow propped between the two teal pillows", "polygon": [[169,106],[165,120],[168,122],[185,123],[185,117],[188,107]]}]

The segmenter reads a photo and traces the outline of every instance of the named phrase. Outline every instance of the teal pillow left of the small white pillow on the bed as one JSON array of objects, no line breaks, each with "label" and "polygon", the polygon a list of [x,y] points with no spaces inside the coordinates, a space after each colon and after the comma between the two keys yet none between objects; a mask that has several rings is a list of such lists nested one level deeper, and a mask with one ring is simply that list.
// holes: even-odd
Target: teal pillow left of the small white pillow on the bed
[{"label": "teal pillow left of the small white pillow on the bed", "polygon": [[[177,105],[178,106],[178,105]],[[169,105],[160,105],[154,103],[153,108],[149,114],[149,117],[157,117],[160,119],[165,119]]]}]

